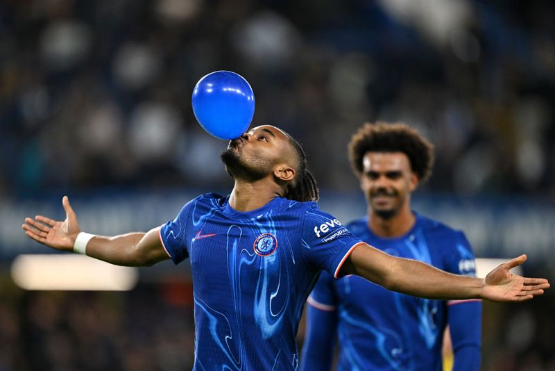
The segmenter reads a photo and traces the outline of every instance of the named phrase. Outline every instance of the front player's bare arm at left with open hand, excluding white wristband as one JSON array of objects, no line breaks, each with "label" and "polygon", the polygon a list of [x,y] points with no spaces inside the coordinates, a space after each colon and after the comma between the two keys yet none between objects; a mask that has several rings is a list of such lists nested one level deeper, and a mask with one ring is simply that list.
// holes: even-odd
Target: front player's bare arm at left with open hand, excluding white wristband
[{"label": "front player's bare arm at left with open hand, excluding white wristband", "polygon": [[[69,199],[62,199],[66,219],[63,222],[37,215],[33,220],[25,218],[25,234],[46,246],[60,251],[71,252],[78,234],[81,232],[77,216],[69,204]],[[87,255],[101,261],[117,265],[145,266],[169,259],[159,236],[160,227],[147,233],[127,233],[121,236],[94,236],[87,243]]]}]

